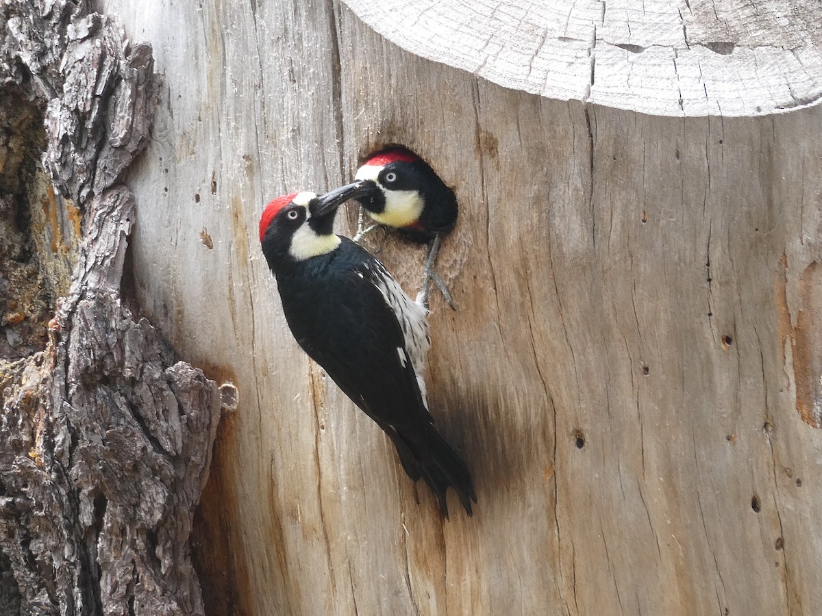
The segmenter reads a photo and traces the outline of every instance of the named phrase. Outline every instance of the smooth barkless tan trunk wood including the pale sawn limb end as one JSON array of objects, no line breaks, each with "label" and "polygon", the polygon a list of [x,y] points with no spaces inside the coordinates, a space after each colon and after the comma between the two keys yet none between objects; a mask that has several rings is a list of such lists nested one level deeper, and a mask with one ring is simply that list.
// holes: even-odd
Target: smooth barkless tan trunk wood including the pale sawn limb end
[{"label": "smooth barkless tan trunk wood including the pale sawn limb end", "polygon": [[[164,76],[134,304],[241,394],[195,517],[206,614],[815,614],[822,13],[643,7],[109,2]],[[388,143],[459,198],[427,384],[470,518],[299,350],[258,247],[266,200]],[[88,169],[48,167],[102,199]],[[422,251],[367,247],[417,291]]]}]

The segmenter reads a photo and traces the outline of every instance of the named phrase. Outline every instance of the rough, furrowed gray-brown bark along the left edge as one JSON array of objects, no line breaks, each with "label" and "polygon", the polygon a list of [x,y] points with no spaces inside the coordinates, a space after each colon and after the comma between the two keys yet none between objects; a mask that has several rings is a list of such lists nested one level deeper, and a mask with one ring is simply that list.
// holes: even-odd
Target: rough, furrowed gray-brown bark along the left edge
[{"label": "rough, furrowed gray-brown bark along the left edge", "polygon": [[136,315],[124,273],[121,180],[157,84],[150,47],[85,2],[3,3],[2,614],[204,611],[188,536],[219,391]]}]

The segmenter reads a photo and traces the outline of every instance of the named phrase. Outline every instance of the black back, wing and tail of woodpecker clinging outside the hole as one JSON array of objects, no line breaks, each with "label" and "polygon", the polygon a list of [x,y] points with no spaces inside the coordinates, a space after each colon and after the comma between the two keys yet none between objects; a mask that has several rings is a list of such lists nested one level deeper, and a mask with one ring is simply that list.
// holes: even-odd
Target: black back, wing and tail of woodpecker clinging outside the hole
[{"label": "black back, wing and tail of woodpecker clinging outside the hole", "polygon": [[310,275],[278,276],[285,317],[305,352],[388,434],[409,477],[432,488],[442,513],[448,516],[453,487],[470,515],[477,501],[471,474],[432,425],[402,327],[369,276],[376,264],[344,240],[326,260],[306,265]]}]

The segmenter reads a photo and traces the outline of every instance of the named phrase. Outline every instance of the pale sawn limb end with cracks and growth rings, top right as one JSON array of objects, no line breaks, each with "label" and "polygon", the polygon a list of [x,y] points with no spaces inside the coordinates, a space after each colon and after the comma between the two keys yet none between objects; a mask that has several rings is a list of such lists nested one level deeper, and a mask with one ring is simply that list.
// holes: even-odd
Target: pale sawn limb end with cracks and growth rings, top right
[{"label": "pale sawn limb end with cracks and growth rings, top right", "polygon": [[814,2],[342,1],[412,53],[552,99],[727,117],[822,98]]}]

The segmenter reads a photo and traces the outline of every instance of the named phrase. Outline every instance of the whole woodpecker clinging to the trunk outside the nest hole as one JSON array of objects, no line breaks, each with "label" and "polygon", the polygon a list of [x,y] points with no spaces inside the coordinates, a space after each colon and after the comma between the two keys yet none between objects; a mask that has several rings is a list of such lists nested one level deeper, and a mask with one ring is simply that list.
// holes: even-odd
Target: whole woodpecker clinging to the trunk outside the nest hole
[{"label": "whole woodpecker clinging to the trunk outside the nest hole", "polygon": [[260,219],[260,241],[300,347],[388,434],[404,471],[425,480],[448,517],[446,490],[465,511],[477,502],[468,467],[432,425],[423,370],[427,310],[380,261],[331,230],[363,182],[326,195],[279,197]]}]

